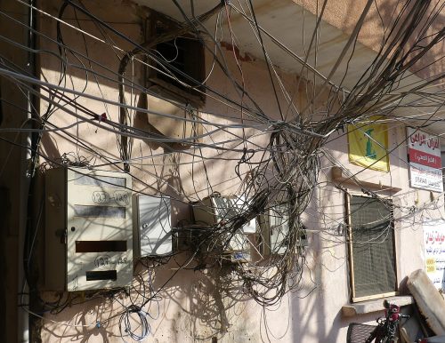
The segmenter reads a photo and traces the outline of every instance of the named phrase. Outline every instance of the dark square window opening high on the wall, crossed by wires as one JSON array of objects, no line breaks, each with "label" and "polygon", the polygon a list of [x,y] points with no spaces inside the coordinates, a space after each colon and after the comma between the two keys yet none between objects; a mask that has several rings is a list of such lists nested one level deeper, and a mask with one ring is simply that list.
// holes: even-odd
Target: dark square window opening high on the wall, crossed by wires
[{"label": "dark square window opening high on the wall, crossed by wires", "polygon": [[[154,14],[151,20],[150,36],[160,36],[174,31],[177,24],[161,14]],[[181,100],[200,107],[206,99],[206,66],[204,44],[196,37],[184,35],[159,43],[153,48],[148,78],[150,85],[158,85],[173,94],[174,100]]]}]

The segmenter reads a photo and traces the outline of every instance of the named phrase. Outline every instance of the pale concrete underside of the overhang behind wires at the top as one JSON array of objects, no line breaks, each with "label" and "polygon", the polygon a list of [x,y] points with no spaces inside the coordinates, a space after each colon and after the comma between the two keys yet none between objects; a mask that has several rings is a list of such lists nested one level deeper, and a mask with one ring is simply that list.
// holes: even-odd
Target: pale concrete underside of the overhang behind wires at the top
[{"label": "pale concrete underside of the overhang behind wires at the top", "polygon": [[[137,4],[166,14],[175,20],[184,21],[182,12],[179,11],[173,1],[134,1]],[[191,18],[193,13],[190,7],[190,0],[177,0],[177,3],[181,5],[185,15]],[[216,0],[195,0],[193,1],[194,14],[198,16],[203,12],[209,11],[219,3]],[[307,63],[319,75],[318,83],[322,83],[323,77],[327,77],[332,73],[332,69],[336,66],[337,60],[341,56],[350,36],[321,20],[320,27],[315,36],[317,44],[312,45],[312,49],[306,57],[305,54],[312,41],[312,36],[314,36],[317,17],[302,6],[295,4],[292,0],[255,0],[252,3],[254,4],[256,21],[263,29],[261,36],[271,63],[287,72],[300,74],[302,71],[301,61],[307,60]],[[243,4],[244,7],[240,7],[240,4]],[[253,25],[252,20],[247,20],[240,13],[244,12],[247,17],[252,18],[247,2],[232,1],[231,6],[238,9],[231,9],[230,20],[233,38],[239,48],[239,52],[241,55],[248,53],[255,59],[265,60],[255,25]],[[223,41],[231,44],[231,34],[227,25],[225,10],[222,12],[220,19],[222,20],[223,27]],[[204,23],[209,32],[214,32],[215,20],[216,17],[214,16]],[[336,85],[341,84],[345,90],[352,89],[360,80],[364,71],[376,58],[376,55],[374,50],[360,42],[351,44],[350,49],[344,54],[342,62],[337,66],[329,80]],[[418,84],[422,81],[416,75],[410,74],[403,78],[395,93],[408,91],[412,88],[411,84]],[[438,92],[438,90],[431,88],[429,92]],[[408,106],[398,108],[394,114],[396,116],[416,117],[417,122],[409,121],[413,125],[425,124],[425,120],[431,120],[433,117],[436,119],[443,118],[445,115],[443,107],[436,111],[437,108],[426,106],[415,108],[409,106],[409,104],[419,99],[416,95],[409,95],[401,103]],[[433,111],[436,111],[436,113],[433,114]],[[440,134],[445,132],[445,124],[435,123],[429,126],[427,131]]]}]

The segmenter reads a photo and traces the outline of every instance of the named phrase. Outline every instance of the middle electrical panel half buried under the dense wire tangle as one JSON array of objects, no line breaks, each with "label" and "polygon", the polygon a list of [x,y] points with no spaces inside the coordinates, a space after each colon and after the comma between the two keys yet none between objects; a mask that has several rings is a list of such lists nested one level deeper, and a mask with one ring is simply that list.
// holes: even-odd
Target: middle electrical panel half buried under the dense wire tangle
[{"label": "middle electrical panel half buried under the dense wire tangle", "polygon": [[[210,195],[204,198],[198,205],[193,206],[193,214],[198,225],[226,226],[228,232],[233,225],[233,218],[247,210],[248,203],[244,196],[220,196]],[[246,262],[250,260],[251,243],[246,234],[256,232],[255,219],[248,221],[238,232],[228,233],[229,243],[224,246],[224,253],[231,261]],[[225,237],[223,237],[225,242]]]}]

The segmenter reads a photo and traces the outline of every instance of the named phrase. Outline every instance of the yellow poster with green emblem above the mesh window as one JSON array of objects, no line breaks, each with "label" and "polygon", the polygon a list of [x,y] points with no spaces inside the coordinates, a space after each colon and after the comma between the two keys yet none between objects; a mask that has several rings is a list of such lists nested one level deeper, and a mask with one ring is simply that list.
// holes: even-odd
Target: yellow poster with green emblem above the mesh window
[{"label": "yellow poster with green emblem above the mesh window", "polygon": [[368,123],[348,125],[349,161],[380,172],[389,172],[388,128],[371,117]]}]

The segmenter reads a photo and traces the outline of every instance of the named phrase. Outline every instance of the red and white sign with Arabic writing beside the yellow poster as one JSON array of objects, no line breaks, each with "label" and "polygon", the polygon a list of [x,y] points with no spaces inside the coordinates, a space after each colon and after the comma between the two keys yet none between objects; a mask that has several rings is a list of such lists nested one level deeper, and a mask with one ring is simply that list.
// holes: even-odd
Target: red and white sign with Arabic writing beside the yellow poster
[{"label": "red and white sign with Arabic writing beside the yellow poster", "polygon": [[408,128],[409,185],[442,192],[441,141],[439,137]]}]

